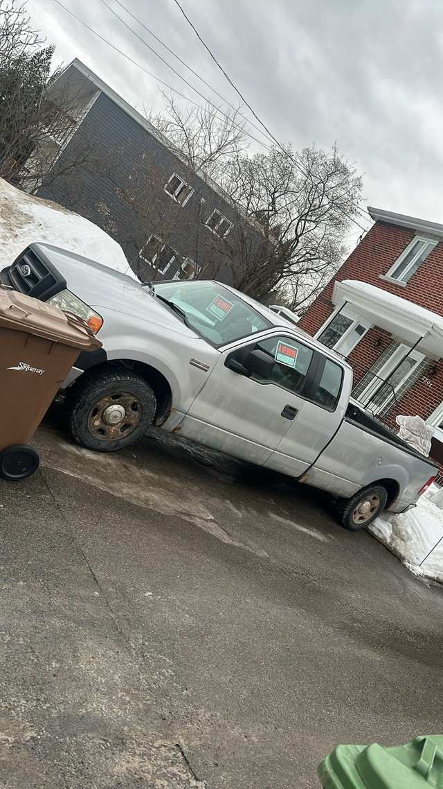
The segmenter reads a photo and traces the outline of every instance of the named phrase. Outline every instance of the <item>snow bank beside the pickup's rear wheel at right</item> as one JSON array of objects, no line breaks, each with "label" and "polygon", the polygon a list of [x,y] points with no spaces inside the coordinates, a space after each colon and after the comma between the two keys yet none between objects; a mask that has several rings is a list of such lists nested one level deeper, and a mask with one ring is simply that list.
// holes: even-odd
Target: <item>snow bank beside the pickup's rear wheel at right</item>
[{"label": "snow bank beside the pickup's rear wheel at right", "polygon": [[368,529],[415,575],[443,583],[443,490],[431,485],[414,509],[384,512]]}]

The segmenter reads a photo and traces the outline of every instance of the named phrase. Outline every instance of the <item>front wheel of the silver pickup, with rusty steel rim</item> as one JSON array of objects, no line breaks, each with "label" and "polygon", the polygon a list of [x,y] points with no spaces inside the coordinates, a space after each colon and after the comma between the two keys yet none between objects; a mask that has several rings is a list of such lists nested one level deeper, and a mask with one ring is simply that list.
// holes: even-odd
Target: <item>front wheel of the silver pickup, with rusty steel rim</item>
[{"label": "front wheel of the silver pickup, with rusty steel rim", "polygon": [[65,402],[69,428],[82,447],[115,452],[143,436],[154,419],[155,396],[135,372],[106,370],[83,376]]}]

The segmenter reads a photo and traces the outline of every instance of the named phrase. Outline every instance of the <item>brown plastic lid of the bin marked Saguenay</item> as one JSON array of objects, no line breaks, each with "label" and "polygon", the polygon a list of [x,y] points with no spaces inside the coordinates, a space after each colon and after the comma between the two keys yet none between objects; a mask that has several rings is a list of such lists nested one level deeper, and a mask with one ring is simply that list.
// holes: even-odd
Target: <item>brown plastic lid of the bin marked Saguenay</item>
[{"label": "brown plastic lid of the bin marked Saguenay", "polygon": [[0,328],[28,331],[80,350],[102,346],[98,337],[81,318],[44,301],[0,288]]}]

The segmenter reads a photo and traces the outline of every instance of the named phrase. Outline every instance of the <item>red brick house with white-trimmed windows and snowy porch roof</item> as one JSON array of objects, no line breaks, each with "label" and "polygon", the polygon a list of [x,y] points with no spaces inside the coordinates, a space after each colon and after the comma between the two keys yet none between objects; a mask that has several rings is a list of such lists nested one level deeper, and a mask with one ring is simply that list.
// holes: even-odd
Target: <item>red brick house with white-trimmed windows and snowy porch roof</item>
[{"label": "red brick house with white-trimmed windows and snowy porch roof", "polygon": [[442,466],[443,225],[368,211],[374,226],[299,326],[347,357],[352,396],[375,416],[395,427],[397,414],[418,414],[432,425],[430,454]]}]

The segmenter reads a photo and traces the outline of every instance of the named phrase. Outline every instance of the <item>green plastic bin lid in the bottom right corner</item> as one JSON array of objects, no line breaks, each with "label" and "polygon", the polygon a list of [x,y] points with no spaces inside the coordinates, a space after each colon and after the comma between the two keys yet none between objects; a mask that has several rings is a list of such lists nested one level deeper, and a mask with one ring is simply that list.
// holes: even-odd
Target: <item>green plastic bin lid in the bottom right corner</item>
[{"label": "green plastic bin lid in the bottom right corner", "polygon": [[317,773],[324,789],[443,789],[443,735],[389,748],[339,745]]}]

